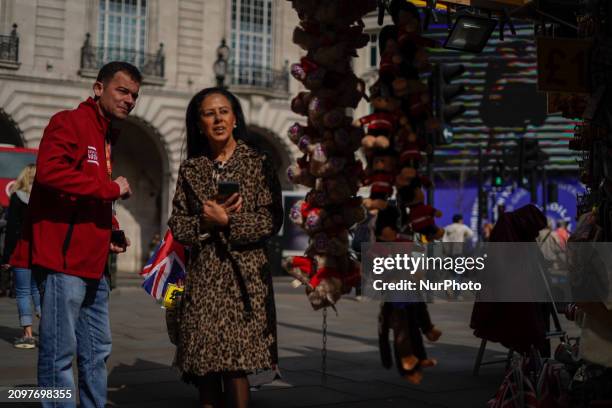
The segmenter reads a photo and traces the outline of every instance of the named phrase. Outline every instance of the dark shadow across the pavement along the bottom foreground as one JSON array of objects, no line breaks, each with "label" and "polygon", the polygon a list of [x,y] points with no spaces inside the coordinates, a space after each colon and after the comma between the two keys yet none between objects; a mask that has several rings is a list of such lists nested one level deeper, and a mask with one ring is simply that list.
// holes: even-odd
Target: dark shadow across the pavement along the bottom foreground
[{"label": "dark shadow across the pavement along the bottom foreground", "polygon": [[[329,351],[327,375],[321,371],[321,350],[283,347],[282,379],[252,393],[252,406],[272,407],[484,407],[503,376],[503,365],[483,367],[473,377],[473,347],[436,345],[429,353],[439,360],[425,371],[423,383],[412,385],[395,368],[381,367],[378,352]],[[488,352],[487,358],[503,353]],[[452,358],[451,358],[452,356]],[[459,358],[458,358],[459,357]],[[459,360],[459,361],[458,361]],[[184,384],[169,365],[136,360],[109,373],[108,400],[116,407],[196,407],[197,391]]]}]

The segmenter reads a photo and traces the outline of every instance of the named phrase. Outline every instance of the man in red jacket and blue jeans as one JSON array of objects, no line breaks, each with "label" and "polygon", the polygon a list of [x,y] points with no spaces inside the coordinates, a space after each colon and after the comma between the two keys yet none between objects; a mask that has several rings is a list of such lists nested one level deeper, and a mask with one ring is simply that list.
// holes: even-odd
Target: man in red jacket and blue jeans
[{"label": "man in red jacket and blue jeans", "polygon": [[44,291],[38,385],[74,393],[76,354],[83,407],[106,403],[111,333],[104,270],[109,251],[124,252],[129,245],[111,239],[111,230],[118,228],[113,201],[127,198],[131,190],[124,177],[111,178],[109,125],[132,111],[141,81],[136,67],[111,62],[98,73],[94,98],[51,118],[36,163],[31,227],[11,262],[30,263]]}]

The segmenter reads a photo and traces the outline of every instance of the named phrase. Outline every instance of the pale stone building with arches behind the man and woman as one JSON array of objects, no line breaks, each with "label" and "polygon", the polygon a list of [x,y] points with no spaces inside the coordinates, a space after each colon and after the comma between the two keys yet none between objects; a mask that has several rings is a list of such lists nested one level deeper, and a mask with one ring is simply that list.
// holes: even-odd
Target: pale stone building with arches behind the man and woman
[{"label": "pale stone building with arches behind the man and woman", "polygon": [[[376,30],[374,17],[367,20]],[[138,270],[153,235],[165,231],[186,106],[215,84],[213,63],[224,38],[226,83],[240,97],[250,130],[272,152],[283,187],[293,189],[284,173],[297,155],[286,131],[300,120],[289,109],[300,90],[288,74],[302,54],[291,42],[297,21],[286,0],[0,0],[0,143],[37,147],[54,113],[92,94],[103,63],[139,66],[141,96],[114,149],[114,173],[134,190],[117,206],[133,243],[119,269]],[[376,64],[375,41],[361,52],[358,74]]]}]

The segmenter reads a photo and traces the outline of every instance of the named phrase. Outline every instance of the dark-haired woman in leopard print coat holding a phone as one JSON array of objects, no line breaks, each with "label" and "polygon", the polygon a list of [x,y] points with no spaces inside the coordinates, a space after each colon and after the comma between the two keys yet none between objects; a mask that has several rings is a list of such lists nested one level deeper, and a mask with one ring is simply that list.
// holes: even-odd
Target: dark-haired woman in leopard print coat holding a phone
[{"label": "dark-haired woman in leopard print coat holding a phone", "polygon": [[[187,108],[188,159],[180,167],[174,237],[190,247],[176,365],[200,389],[203,406],[248,405],[246,374],[277,361],[274,294],[265,240],[283,220],[281,189],[270,160],[247,143],[237,98],[219,88]],[[217,203],[217,183],[239,194]]]}]

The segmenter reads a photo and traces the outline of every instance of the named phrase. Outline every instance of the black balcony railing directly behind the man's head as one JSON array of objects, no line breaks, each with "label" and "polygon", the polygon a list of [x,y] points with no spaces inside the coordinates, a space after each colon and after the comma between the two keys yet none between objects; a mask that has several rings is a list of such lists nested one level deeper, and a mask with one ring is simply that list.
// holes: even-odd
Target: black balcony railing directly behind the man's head
[{"label": "black balcony railing directly behind the man's head", "polygon": [[159,44],[156,53],[145,53],[138,50],[114,47],[94,47],[87,33],[81,48],[81,75],[91,76],[106,63],[125,61],[140,69],[145,82],[163,83],[164,81],[164,44]]}]

